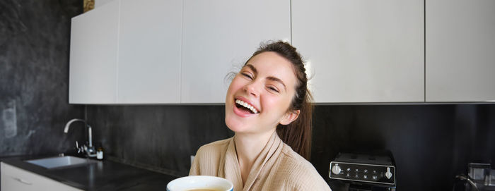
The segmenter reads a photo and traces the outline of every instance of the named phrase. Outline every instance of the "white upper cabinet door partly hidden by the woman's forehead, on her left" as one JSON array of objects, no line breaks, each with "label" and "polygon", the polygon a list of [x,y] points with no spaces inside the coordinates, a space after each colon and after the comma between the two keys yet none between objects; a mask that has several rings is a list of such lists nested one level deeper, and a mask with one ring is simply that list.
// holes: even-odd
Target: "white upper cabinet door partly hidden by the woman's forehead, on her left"
[{"label": "white upper cabinet door partly hidden by the woman's forehead, on her left", "polygon": [[224,103],[238,72],[271,39],[290,40],[290,1],[184,0],[182,103]]}]

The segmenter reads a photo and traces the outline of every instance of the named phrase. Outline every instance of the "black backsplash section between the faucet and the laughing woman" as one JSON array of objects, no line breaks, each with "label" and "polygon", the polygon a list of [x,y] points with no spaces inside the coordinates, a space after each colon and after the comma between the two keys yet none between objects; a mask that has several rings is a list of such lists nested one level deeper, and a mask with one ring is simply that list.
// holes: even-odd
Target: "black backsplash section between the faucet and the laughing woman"
[{"label": "black backsplash section between the faucet and the laughing woman", "polygon": [[223,118],[223,106],[88,106],[105,156],[180,176],[199,147],[233,136]]}]

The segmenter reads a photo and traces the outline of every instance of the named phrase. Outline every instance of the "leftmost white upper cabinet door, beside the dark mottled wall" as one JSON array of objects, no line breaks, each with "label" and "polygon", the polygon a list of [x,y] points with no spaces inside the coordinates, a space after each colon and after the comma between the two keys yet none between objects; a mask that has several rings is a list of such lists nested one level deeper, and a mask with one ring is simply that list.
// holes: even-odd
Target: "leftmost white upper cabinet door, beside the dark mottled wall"
[{"label": "leftmost white upper cabinet door, beside the dark mottled wall", "polygon": [[109,104],[117,99],[119,2],[72,18],[70,104]]}]

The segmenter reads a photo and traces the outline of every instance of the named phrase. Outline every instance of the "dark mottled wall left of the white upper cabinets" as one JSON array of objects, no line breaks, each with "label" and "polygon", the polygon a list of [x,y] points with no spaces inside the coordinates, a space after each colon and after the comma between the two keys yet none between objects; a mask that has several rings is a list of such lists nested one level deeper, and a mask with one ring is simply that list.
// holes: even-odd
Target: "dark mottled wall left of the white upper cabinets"
[{"label": "dark mottled wall left of the white upper cabinets", "polygon": [[[64,152],[83,107],[68,104],[71,17],[82,1],[0,1],[0,156]],[[76,126],[76,125],[74,125]]]}]

